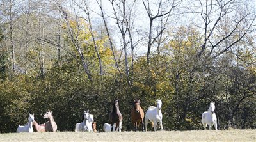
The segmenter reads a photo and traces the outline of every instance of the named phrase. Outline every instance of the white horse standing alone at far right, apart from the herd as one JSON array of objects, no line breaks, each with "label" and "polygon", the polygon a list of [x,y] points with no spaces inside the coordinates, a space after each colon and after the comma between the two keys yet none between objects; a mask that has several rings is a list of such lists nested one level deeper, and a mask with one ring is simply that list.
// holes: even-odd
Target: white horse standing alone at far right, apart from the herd
[{"label": "white horse standing alone at far right, apart from the herd", "polygon": [[214,125],[215,129],[217,130],[217,117],[214,113],[214,110],[215,102],[211,102],[208,111],[205,111],[202,114],[202,123],[204,126],[204,130],[206,130],[207,125],[209,126],[209,130],[212,129],[212,125]]}]

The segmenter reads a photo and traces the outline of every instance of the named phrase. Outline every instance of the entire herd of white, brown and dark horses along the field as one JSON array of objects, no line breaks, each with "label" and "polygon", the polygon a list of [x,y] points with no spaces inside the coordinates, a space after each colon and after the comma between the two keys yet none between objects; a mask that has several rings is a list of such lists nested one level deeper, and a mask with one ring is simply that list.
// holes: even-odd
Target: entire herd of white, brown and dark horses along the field
[{"label": "entire herd of white, brown and dark horses along the field", "polygon": [[[123,116],[119,109],[118,99],[113,102],[113,111],[109,113],[109,122],[104,123],[104,132],[121,132]],[[147,132],[148,122],[151,122],[154,131],[157,130],[157,122],[160,125],[160,130],[163,130],[163,114],[161,112],[162,99],[157,99],[157,106],[150,106],[144,114],[143,109],[140,107],[140,100],[134,100],[134,107],[131,110],[131,122],[134,126],[134,131],[138,131],[140,123],[142,124],[143,132]],[[202,113],[202,124],[206,130],[207,125],[209,130],[212,129],[214,125],[217,130],[217,117],[214,113],[215,102],[211,102],[208,111]],[[39,125],[34,118],[34,114],[29,114],[28,123],[24,126],[19,125],[17,132],[56,132],[57,124],[53,119],[52,111],[47,110],[44,114],[44,118],[48,119],[44,124]],[[145,120],[145,125],[143,120]],[[84,111],[83,121],[81,123],[76,123],[75,132],[97,132],[96,122],[93,120],[93,114],[89,113],[89,110]]]}]

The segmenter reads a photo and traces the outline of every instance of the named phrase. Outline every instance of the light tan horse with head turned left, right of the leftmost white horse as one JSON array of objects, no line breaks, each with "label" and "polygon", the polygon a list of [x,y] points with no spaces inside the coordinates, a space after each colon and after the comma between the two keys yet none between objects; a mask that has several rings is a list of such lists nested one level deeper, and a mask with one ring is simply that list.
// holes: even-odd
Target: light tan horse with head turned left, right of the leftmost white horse
[{"label": "light tan horse with head turned left, right of the leftmost white horse", "polygon": [[46,132],[56,132],[57,130],[57,124],[53,119],[52,116],[52,111],[47,110],[46,113],[44,114],[44,119],[48,119],[49,121],[45,122],[45,131]]}]

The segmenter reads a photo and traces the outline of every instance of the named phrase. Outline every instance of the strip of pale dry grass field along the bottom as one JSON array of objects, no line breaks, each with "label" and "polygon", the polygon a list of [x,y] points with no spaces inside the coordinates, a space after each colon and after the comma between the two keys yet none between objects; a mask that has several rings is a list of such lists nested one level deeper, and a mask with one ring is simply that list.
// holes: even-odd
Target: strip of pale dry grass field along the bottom
[{"label": "strip of pale dry grass field along the bottom", "polygon": [[256,130],[8,133],[1,141],[256,141]]}]

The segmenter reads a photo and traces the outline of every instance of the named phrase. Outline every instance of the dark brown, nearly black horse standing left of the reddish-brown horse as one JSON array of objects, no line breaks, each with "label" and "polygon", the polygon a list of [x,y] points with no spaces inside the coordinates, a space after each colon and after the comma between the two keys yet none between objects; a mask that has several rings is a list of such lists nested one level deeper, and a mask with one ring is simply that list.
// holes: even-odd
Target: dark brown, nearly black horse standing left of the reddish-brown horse
[{"label": "dark brown, nearly black horse standing left of the reddish-brown horse", "polygon": [[123,116],[119,110],[118,99],[114,100],[113,111],[109,113],[109,120],[111,122],[111,131],[113,131],[113,125],[116,123],[115,131],[118,129],[121,132]]}]

